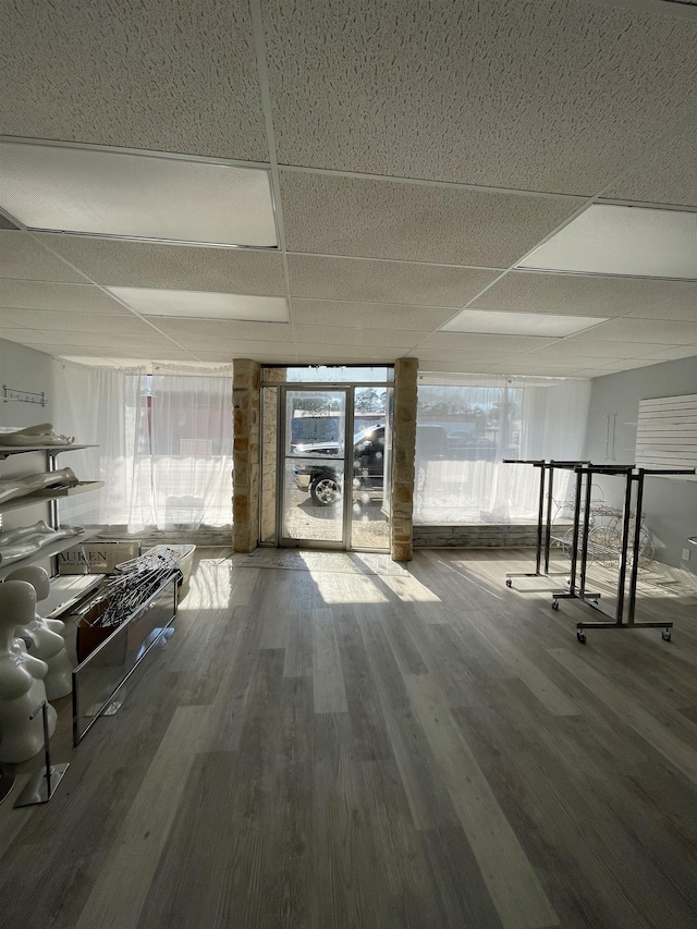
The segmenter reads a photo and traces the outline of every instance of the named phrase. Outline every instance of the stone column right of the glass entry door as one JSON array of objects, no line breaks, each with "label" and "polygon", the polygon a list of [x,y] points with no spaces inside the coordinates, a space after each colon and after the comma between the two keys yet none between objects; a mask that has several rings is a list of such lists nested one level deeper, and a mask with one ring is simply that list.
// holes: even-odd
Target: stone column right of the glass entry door
[{"label": "stone column right of the glass entry door", "polygon": [[394,365],[394,419],[392,424],[392,540],[393,561],[414,555],[414,454],[416,449],[416,358],[398,358]]}]

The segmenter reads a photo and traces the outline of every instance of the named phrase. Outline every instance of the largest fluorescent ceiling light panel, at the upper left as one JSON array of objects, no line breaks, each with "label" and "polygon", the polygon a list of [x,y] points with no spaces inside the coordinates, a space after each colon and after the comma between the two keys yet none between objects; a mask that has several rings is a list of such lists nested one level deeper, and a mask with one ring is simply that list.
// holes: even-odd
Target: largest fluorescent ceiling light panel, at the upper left
[{"label": "largest fluorescent ceiling light panel, at the upper left", "polygon": [[0,143],[0,207],[34,230],[277,247],[269,172]]}]

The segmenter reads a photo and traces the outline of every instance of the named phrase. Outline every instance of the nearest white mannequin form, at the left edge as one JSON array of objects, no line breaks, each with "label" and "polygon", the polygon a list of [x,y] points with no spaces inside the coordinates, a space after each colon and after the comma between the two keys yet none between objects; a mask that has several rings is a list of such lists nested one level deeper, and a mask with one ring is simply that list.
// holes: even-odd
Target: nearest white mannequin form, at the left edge
[{"label": "nearest white mannequin form, at the left edge", "polygon": [[[41,680],[46,662],[27,655],[14,637],[14,627],[28,625],[36,613],[36,592],[26,580],[0,584],[0,761],[33,758],[44,746],[41,713],[32,713],[46,700]],[[48,707],[48,729],[56,729],[56,710]]]}]

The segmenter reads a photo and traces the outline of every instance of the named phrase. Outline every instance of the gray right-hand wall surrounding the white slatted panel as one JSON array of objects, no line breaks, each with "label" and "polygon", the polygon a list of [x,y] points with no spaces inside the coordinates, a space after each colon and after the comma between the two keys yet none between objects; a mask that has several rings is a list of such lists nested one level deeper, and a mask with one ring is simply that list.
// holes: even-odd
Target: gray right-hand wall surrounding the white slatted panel
[{"label": "gray right-hand wall surrounding the white slatted panel", "polygon": [[[584,457],[594,464],[633,464],[639,400],[685,393],[697,393],[695,357],[595,378]],[[608,443],[608,416],[613,414],[616,414],[614,455]],[[621,504],[622,478],[600,477],[598,484],[609,503]],[[656,542],[656,558],[697,574],[697,547],[687,542],[689,536],[697,536],[697,481],[647,478],[643,509]],[[686,548],[689,561],[682,559]]]}]

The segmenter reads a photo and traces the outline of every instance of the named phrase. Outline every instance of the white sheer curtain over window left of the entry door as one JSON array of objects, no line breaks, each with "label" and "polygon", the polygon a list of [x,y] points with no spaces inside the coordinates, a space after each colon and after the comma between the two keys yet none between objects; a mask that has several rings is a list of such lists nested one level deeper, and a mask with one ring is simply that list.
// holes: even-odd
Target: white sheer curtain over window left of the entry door
[{"label": "white sheer curtain over window left of the entry door", "polygon": [[156,366],[150,377],[56,362],[54,379],[57,431],[99,445],[71,452],[70,466],[106,485],[62,504],[64,522],[131,533],[232,524],[231,367]]}]

